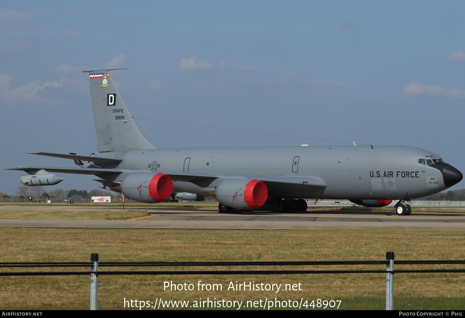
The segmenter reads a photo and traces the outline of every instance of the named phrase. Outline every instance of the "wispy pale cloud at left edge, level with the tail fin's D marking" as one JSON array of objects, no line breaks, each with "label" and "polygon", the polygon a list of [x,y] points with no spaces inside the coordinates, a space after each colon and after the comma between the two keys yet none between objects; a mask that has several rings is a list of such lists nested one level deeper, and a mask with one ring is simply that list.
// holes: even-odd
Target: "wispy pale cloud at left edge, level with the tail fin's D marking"
[{"label": "wispy pale cloud at left edge, level with the tail fin's D marking", "polygon": [[53,82],[47,81],[44,84],[40,82],[40,80],[35,80],[26,86],[17,87],[14,89],[10,89],[12,77],[8,74],[0,74],[0,96],[6,99],[14,99],[14,100],[21,100],[21,99],[33,99],[37,97],[37,92],[45,87],[60,87],[63,80],[60,83],[56,80]]}]

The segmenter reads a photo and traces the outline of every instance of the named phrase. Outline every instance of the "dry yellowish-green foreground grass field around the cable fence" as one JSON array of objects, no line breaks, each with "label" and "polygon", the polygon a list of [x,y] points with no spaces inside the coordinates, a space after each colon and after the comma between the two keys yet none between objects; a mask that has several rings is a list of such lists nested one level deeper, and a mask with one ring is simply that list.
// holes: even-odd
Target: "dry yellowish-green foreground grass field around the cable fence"
[{"label": "dry yellowish-green foreground grass field around the cable fence", "polygon": [[[394,251],[396,259],[465,258],[463,231],[94,231],[2,228],[0,239],[2,262],[88,261],[92,252],[98,252],[100,261],[103,262],[382,260],[386,251]],[[425,268],[423,265],[396,265],[396,269],[406,269],[407,266]],[[383,267],[376,265],[319,268],[385,269]],[[432,267],[459,268],[458,265],[434,265],[429,268]],[[315,266],[303,268],[316,269]],[[104,269],[100,268],[100,271]],[[3,268],[2,271],[8,269]],[[164,281],[192,283],[197,288],[199,280],[204,283],[222,284],[223,291],[163,291]],[[302,291],[227,291],[231,281],[234,284],[236,281],[255,281],[283,286],[301,283]],[[464,274],[399,273],[395,275],[394,288],[394,309],[465,309]],[[303,298],[309,302],[312,299],[333,299],[342,300],[339,309],[384,309],[385,274],[99,277],[99,309],[124,309],[124,298],[155,302],[155,299],[160,297],[164,300],[189,300],[191,304],[194,300],[207,297],[217,300],[243,300],[244,304],[247,300],[275,297],[279,300],[299,301]],[[89,278],[86,276],[0,278],[2,309],[88,309],[88,304]]]}]

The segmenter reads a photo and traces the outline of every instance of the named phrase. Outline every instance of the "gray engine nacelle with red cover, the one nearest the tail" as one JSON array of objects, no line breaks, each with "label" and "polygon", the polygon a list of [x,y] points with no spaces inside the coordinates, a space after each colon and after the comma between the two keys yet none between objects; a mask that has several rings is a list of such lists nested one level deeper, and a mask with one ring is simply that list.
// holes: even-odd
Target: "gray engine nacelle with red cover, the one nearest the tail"
[{"label": "gray engine nacelle with red cover, the one nearest the tail", "polygon": [[121,182],[121,192],[144,203],[163,202],[173,193],[173,180],[164,173],[134,173]]}]

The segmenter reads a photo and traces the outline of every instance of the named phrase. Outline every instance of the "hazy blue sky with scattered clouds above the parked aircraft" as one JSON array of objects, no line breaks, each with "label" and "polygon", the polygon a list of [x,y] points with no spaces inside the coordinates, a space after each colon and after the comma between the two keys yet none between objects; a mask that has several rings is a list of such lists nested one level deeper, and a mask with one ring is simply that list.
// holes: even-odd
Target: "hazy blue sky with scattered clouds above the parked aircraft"
[{"label": "hazy blue sky with scattered clouds above the parked aircraft", "polygon": [[[111,76],[134,117],[414,146],[465,172],[464,18],[463,1],[0,1],[0,167],[97,152],[82,70],[127,67]],[[135,120],[161,148],[345,145]],[[62,177],[46,189],[98,185]]]}]

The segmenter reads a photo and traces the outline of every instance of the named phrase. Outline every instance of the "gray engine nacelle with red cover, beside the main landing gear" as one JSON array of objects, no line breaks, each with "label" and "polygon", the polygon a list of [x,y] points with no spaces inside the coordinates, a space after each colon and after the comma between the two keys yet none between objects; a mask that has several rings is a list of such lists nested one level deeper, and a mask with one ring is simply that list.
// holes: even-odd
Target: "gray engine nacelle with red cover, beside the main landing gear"
[{"label": "gray engine nacelle with red cover, beside the main landing gear", "polygon": [[215,196],[221,204],[241,210],[253,210],[265,204],[268,188],[259,180],[225,180],[216,187]]}]

